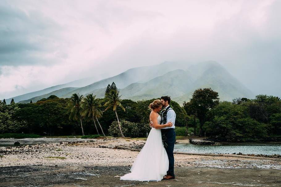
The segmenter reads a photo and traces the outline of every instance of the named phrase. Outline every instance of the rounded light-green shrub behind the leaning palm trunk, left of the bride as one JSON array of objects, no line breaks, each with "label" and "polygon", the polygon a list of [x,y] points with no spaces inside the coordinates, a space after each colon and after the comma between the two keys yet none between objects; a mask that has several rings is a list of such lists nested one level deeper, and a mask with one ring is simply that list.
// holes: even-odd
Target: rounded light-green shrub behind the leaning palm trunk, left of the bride
[{"label": "rounded light-green shrub behind the leaning palm trunk, left of the bride", "polygon": [[[126,120],[120,121],[120,126],[124,136],[136,138],[136,137],[146,137],[146,133],[150,131],[149,124],[133,123]],[[108,132],[110,136],[120,137],[120,129],[117,121],[113,121],[109,126]]]}]

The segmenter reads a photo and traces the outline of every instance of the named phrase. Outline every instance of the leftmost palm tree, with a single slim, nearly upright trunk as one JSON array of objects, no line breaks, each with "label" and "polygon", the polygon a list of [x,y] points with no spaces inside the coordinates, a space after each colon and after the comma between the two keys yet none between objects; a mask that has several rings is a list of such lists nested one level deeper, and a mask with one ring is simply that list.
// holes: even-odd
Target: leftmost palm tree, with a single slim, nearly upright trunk
[{"label": "leftmost palm tree, with a single slim, nearly upright trunk", "polygon": [[83,99],[83,95],[79,96],[79,94],[72,94],[69,103],[68,103],[68,108],[69,108],[69,119],[72,120],[80,120],[81,123],[81,129],[82,129],[82,135],[84,136],[84,131],[83,131],[83,125],[82,125],[82,118],[83,116],[81,115],[82,112],[82,107],[81,107],[81,102]]}]

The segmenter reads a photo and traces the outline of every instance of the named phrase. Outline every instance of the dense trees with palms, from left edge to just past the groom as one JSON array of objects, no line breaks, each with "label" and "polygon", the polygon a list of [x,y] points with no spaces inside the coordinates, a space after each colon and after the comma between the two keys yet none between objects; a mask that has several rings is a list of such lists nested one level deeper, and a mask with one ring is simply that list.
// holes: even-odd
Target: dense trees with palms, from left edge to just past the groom
[{"label": "dense trees with palms, from left edge to just past the groom", "polygon": [[[45,136],[57,135],[111,135],[111,125],[119,126],[120,136],[144,136],[149,132],[149,104],[155,99],[132,101],[121,100],[115,85],[108,85],[105,98],[85,97],[73,94],[71,98],[49,96],[36,103],[0,103],[0,133],[34,133]],[[186,126],[187,114],[183,107],[174,101],[171,106],[177,113],[176,125]],[[119,122],[118,122],[119,121]],[[111,129],[114,129],[112,126]],[[122,126],[122,128],[121,128]],[[129,130],[143,129],[142,132]],[[136,132],[132,134],[131,132]]]}]

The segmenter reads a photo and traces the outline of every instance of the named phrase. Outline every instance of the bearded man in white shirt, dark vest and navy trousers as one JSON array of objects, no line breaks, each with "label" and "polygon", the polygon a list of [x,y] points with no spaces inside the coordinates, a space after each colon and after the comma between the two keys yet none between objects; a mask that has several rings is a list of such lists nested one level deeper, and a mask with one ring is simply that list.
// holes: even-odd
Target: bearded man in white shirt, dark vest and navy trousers
[{"label": "bearded man in white shirt, dark vest and navy trousers", "polygon": [[[166,124],[167,122],[172,122],[172,127],[161,128],[162,140],[164,142],[164,147],[166,149],[168,159],[169,159],[169,170],[167,175],[163,179],[174,179],[174,145],[176,141],[176,132],[175,132],[175,120],[176,113],[170,107],[171,98],[169,96],[162,96],[161,103],[163,104],[164,109],[161,112],[161,124]],[[152,123],[150,126],[153,127]]]}]

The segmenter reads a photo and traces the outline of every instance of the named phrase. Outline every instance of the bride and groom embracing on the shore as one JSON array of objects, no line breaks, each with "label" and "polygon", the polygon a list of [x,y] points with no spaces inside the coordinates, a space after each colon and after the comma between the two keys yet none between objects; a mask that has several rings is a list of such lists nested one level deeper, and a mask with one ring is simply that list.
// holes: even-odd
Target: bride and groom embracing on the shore
[{"label": "bride and groom embracing on the shore", "polygon": [[[130,171],[120,180],[161,181],[174,179],[174,144],[176,114],[170,107],[170,97],[162,96],[149,105],[152,127],[145,145],[137,155]],[[162,111],[161,109],[164,108]],[[158,112],[161,111],[161,115]]]}]

